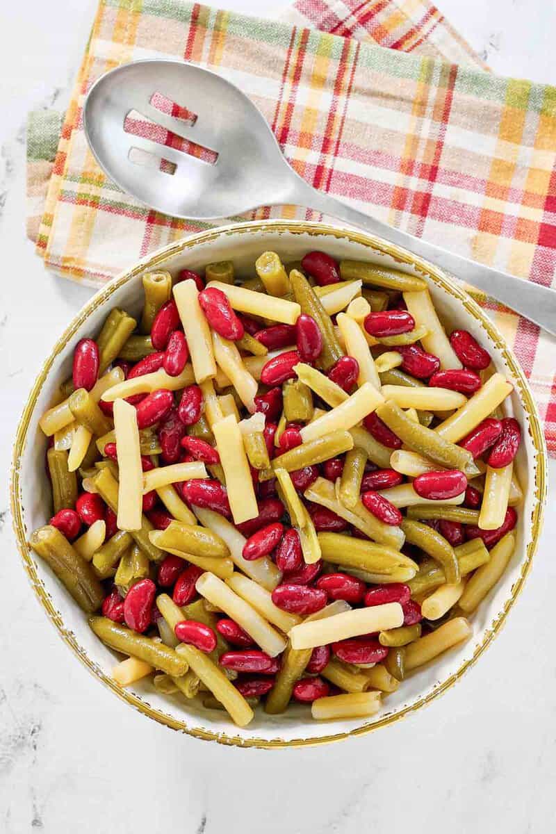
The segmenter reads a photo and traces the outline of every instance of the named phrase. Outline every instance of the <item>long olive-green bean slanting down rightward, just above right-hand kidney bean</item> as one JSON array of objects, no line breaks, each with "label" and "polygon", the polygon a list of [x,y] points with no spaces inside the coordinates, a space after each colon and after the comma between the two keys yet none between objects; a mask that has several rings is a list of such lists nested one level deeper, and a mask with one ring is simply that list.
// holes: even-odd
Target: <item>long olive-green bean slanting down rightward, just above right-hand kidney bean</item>
[{"label": "long olive-green bean slanting down rightward, just above right-hand kidney bean", "polygon": [[473,455],[461,446],[450,443],[438,435],[438,432],[427,429],[420,423],[413,423],[407,414],[392,400],[380,404],[376,414],[383,420],[394,435],[411,449],[430,458],[448,469],[462,470],[468,477],[478,475],[478,468],[473,462]]}]

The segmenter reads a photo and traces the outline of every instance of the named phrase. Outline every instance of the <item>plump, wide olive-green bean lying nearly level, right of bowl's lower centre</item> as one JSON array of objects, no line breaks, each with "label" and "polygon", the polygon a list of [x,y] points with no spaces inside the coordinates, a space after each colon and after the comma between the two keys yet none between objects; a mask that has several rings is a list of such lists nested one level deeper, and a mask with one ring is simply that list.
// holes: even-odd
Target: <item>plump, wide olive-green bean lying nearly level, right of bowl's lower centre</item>
[{"label": "plump, wide olive-green bean lying nearly level, right of bowl's lower centre", "polygon": [[388,545],[354,539],[341,533],[318,533],[323,560],[335,565],[347,565],[368,570],[373,574],[388,575],[400,566],[417,572],[418,565],[408,556]]}]

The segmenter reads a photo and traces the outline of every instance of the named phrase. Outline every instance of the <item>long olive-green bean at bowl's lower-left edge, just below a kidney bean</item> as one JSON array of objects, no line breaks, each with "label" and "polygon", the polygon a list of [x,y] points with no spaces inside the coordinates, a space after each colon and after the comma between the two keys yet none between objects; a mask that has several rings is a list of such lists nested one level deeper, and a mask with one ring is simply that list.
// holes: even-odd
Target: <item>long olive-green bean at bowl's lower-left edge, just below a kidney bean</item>
[{"label": "long olive-green bean at bowl's lower-left edge, just below a kidney bean", "polygon": [[154,641],[152,637],[137,634],[125,625],[108,620],[108,617],[89,617],[89,625],[106,646],[122,652],[123,655],[137,657],[138,660],[150,663],[155,669],[173,677],[185,675],[188,671],[185,658],[180,657],[169,646]]}]

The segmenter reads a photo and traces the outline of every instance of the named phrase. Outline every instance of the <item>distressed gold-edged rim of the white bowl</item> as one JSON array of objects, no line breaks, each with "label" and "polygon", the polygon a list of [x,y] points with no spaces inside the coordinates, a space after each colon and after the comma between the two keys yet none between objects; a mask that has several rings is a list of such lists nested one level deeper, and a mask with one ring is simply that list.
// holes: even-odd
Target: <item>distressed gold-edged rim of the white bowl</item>
[{"label": "distressed gold-edged rim of the white bowl", "polygon": [[[413,269],[415,269],[418,273],[427,276],[433,281],[434,284],[437,284],[439,287],[447,291],[448,294],[451,294],[456,299],[458,299],[463,304],[463,308],[467,310],[468,314],[473,316],[474,319],[478,319],[478,321],[483,325],[484,329],[486,329],[488,333],[489,338],[493,341],[497,349],[503,355],[503,359],[505,359],[505,361],[507,362],[508,367],[513,374],[513,378],[517,383],[518,396],[521,400],[521,403],[523,404],[523,409],[528,417],[529,430],[531,433],[533,447],[536,453],[534,455],[533,461],[534,483],[531,485],[531,492],[533,497],[533,512],[531,517],[531,539],[528,542],[526,554],[522,561],[520,575],[518,577],[518,580],[516,580],[511,589],[511,594],[509,595],[508,599],[505,600],[501,607],[501,610],[498,612],[498,615],[494,617],[493,621],[488,627],[484,628],[483,638],[478,644],[478,646],[475,647],[475,651],[473,651],[473,656],[468,658],[468,660],[464,661],[463,664],[459,666],[458,670],[453,672],[452,675],[448,676],[446,680],[441,681],[438,684],[438,686],[435,686],[433,691],[428,692],[427,695],[419,698],[418,701],[415,701],[414,703],[403,707],[403,709],[391,713],[389,715],[383,716],[383,718],[379,719],[378,721],[374,721],[363,726],[355,727],[353,730],[346,732],[326,734],[323,736],[312,738],[296,738],[290,740],[284,740],[281,738],[244,739],[240,736],[228,735],[225,732],[208,731],[203,727],[189,726],[186,721],[180,721],[176,718],[173,718],[173,716],[169,716],[167,713],[154,708],[153,706],[148,704],[147,701],[143,701],[143,698],[134,695],[131,691],[123,689],[122,687],[118,686],[112,678],[108,677],[108,675],[106,675],[100,669],[100,667],[88,657],[87,653],[83,650],[83,648],[78,645],[77,638],[73,635],[73,632],[69,631],[66,628],[66,626],[63,623],[62,616],[54,607],[53,600],[51,600],[50,596],[47,593],[47,590],[43,585],[43,582],[38,577],[37,570],[35,569],[35,563],[31,555],[30,548],[28,547],[27,536],[25,533],[25,525],[23,521],[23,505],[19,489],[20,460],[22,459],[23,450],[27,442],[28,428],[33,414],[33,410],[37,403],[38,395],[41,389],[43,388],[43,384],[48,379],[48,374],[52,369],[54,360],[58,357],[58,354],[60,354],[61,351],[65,348],[66,344],[68,343],[68,340],[72,339],[73,335],[88,319],[88,316],[92,314],[94,310],[98,309],[99,306],[104,304],[104,302],[107,299],[109,299],[110,296],[117,289],[122,287],[123,284],[127,284],[128,281],[132,280],[136,275],[143,273],[146,269],[153,269],[159,266],[161,263],[163,263],[167,259],[172,258],[174,255],[180,254],[183,251],[187,251],[188,249],[193,249],[198,244],[213,243],[214,240],[220,238],[223,235],[233,236],[238,234],[250,234],[253,232],[262,231],[271,233],[288,232],[291,234],[309,234],[314,238],[318,238],[320,236],[332,236],[337,239],[347,238],[350,242],[363,244],[364,246],[367,246],[370,249],[374,249],[375,251],[378,250],[378,252],[382,254],[387,254],[399,264],[404,264],[413,267]],[[417,255],[413,255],[407,249],[403,249],[402,247],[399,247],[396,244],[389,243],[385,239],[379,238],[376,235],[368,234],[363,231],[347,229],[342,226],[332,226],[313,221],[253,220],[243,223],[218,226],[214,229],[198,232],[186,238],[179,239],[178,241],[175,241],[172,244],[168,244],[162,249],[156,250],[152,254],[148,254],[148,256],[138,261],[138,263],[135,264],[131,269],[124,270],[123,273],[116,276],[114,279],[108,282],[106,286],[98,290],[98,292],[94,294],[93,297],[89,299],[86,304],[83,305],[83,308],[78,312],[78,314],[73,317],[72,321],[68,324],[68,327],[63,331],[63,334],[61,334],[56,344],[54,344],[53,349],[51,350],[51,353],[48,356],[48,359],[44,361],[43,366],[40,369],[38,376],[33,383],[33,387],[28,395],[27,402],[23,408],[23,414],[21,416],[21,419],[19,420],[18,430],[13,445],[13,460],[11,467],[10,484],[13,530],[16,536],[19,554],[21,555],[21,558],[23,560],[24,570],[26,570],[28,579],[31,585],[33,586],[33,590],[35,591],[35,594],[37,595],[40,604],[43,606],[43,609],[45,610],[48,616],[48,620],[50,620],[53,623],[55,628],[58,630],[58,635],[62,637],[65,643],[67,643],[67,645],[71,648],[73,653],[76,656],[78,656],[79,660],[82,661],[82,663],[88,668],[88,671],[90,671],[91,674],[93,674],[93,676],[97,677],[98,680],[100,680],[104,684],[104,686],[107,686],[119,698],[128,703],[130,706],[134,706],[143,715],[148,716],[149,718],[152,718],[153,720],[158,721],[159,723],[168,726],[173,730],[182,731],[188,734],[189,736],[200,738],[206,741],[218,741],[218,743],[224,745],[240,747],[257,747],[263,749],[277,747],[281,748],[317,746],[321,744],[327,744],[332,741],[342,741],[343,739],[352,736],[362,736],[371,731],[378,730],[378,728],[380,727],[393,724],[395,721],[399,721],[405,716],[408,716],[409,714],[418,711],[422,706],[428,705],[431,701],[438,698],[438,696],[442,695],[445,691],[448,691],[448,689],[454,686],[454,684],[463,677],[465,672],[468,671],[468,669],[470,669],[471,666],[474,665],[474,663],[478,660],[478,657],[483,654],[483,651],[485,651],[486,648],[493,642],[494,637],[497,636],[498,632],[501,630],[509,610],[513,607],[513,604],[515,603],[515,601],[518,598],[518,595],[523,589],[525,579],[527,578],[529,570],[531,569],[533,555],[537,550],[538,538],[543,525],[544,503],[547,495],[547,462],[548,458],[546,445],[544,441],[542,425],[538,417],[537,407],[534,403],[533,394],[531,392],[531,389],[529,388],[528,381],[525,378],[525,375],[523,374],[523,370],[518,364],[517,358],[513,354],[513,350],[508,346],[505,339],[503,339],[502,334],[499,333],[495,324],[493,324],[493,322],[490,319],[488,319],[487,315],[483,312],[483,309],[481,309],[478,306],[478,304],[473,300],[473,298],[471,298],[463,289],[460,289],[458,285],[453,282],[452,279],[450,279],[446,274],[444,274],[442,269],[438,268],[434,264],[431,264],[424,259],[418,258]],[[191,716],[187,717],[190,718]]]}]

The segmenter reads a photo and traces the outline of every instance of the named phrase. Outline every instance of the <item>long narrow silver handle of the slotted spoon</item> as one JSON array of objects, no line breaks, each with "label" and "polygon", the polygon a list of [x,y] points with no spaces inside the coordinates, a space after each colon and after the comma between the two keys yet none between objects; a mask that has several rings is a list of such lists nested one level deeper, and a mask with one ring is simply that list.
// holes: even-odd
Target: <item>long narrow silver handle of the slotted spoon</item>
[{"label": "long narrow silver handle of the slotted spoon", "polygon": [[[303,183],[303,185],[307,185],[307,183]],[[533,282],[525,279],[516,278],[515,275],[501,272],[499,269],[478,264],[476,261],[448,252],[447,249],[431,244],[427,240],[415,238],[413,234],[403,232],[401,229],[394,229],[393,226],[370,217],[368,214],[363,214],[363,212],[351,208],[329,194],[317,191],[316,188],[310,186],[307,186],[307,188],[298,187],[296,188],[296,197],[297,199],[292,202],[315,208],[323,214],[329,214],[343,220],[345,223],[365,229],[371,234],[377,234],[393,244],[403,246],[418,257],[437,264],[445,272],[457,275],[459,279],[467,281],[473,287],[483,289],[488,295],[525,316],[534,324],[538,324],[548,333],[553,336],[556,335],[555,290],[543,287],[541,284],[533,284]]]}]

